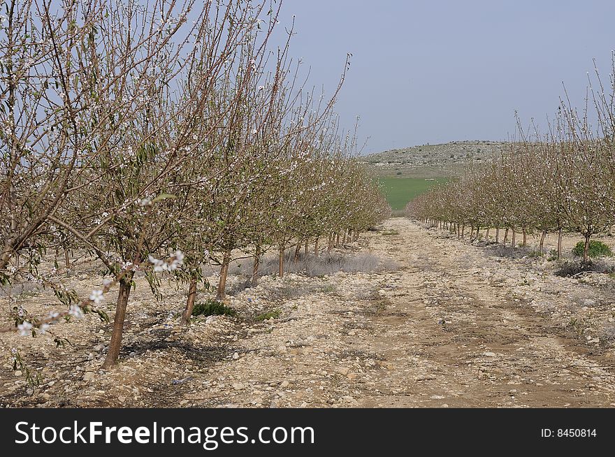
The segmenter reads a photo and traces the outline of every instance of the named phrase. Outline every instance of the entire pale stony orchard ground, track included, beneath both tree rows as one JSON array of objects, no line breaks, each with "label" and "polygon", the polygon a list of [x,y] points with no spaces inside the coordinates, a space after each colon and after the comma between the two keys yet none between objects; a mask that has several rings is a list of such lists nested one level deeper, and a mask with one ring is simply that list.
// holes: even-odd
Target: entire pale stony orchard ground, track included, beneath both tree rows
[{"label": "entire pale stony orchard ground, track included, beneath both tree rows", "polygon": [[[183,293],[168,286],[157,302],[138,282],[113,370],[100,368],[110,324],[93,316],[54,327],[70,340],[64,347],[52,335],[1,334],[0,403],[615,406],[612,276],[558,277],[546,257],[499,256],[405,218],[382,229],[354,249],[379,256],[386,270],[263,277],[229,296],[238,317],[199,318],[188,331],[178,326]],[[83,291],[93,284],[86,274],[73,282]],[[20,300],[32,314],[54,306],[44,293]],[[3,299],[3,313],[9,307]],[[11,347],[40,386],[13,371]]]}]

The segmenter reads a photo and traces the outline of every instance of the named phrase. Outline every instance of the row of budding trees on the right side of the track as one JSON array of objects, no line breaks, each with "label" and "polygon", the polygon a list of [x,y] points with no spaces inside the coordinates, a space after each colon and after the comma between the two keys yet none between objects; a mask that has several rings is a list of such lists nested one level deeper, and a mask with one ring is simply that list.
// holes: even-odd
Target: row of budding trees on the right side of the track
[{"label": "row of budding trees on the right side of the track", "polygon": [[408,203],[407,214],[445,226],[460,238],[468,233],[476,239],[486,229],[487,241],[491,233],[495,242],[512,247],[519,241],[516,233],[522,233],[522,245],[528,234],[540,235],[540,254],[545,235],[558,233],[558,258],[562,234],[578,233],[587,262],[591,237],[615,224],[612,74],[605,87],[596,71],[598,82],[588,89],[587,106],[593,108],[578,113],[563,99],[542,135],[528,135],[518,123],[520,139],[507,152],[482,166],[473,164],[458,180],[419,196]]}]

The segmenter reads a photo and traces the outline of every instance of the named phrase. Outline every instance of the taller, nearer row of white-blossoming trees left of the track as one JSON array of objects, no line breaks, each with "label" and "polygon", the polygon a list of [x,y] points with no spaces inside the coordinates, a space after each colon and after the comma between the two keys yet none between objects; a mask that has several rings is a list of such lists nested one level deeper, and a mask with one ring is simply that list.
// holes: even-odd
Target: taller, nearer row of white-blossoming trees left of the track
[{"label": "taller, nearer row of white-blossoming trees left of the track", "polygon": [[[98,312],[117,363],[133,278],[185,293],[189,325],[202,266],[331,249],[389,215],[332,95],[298,79],[274,46],[280,2],[8,1],[0,31],[0,281],[36,282],[57,311],[21,308],[2,331],[41,335]],[[320,242],[320,245],[319,245]],[[89,259],[101,289],[58,280]],[[52,264],[52,268],[48,268]],[[115,300],[115,312],[101,307]],[[15,360],[19,358],[15,349]],[[22,363],[22,361],[20,361]]]}]

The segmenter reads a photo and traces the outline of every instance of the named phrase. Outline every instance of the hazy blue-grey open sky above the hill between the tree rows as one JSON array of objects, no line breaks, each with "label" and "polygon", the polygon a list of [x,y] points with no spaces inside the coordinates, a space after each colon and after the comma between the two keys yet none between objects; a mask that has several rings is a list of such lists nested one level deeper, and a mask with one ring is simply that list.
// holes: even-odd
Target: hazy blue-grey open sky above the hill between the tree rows
[{"label": "hazy blue-grey open sky above the hill between the tree rows", "polygon": [[585,95],[597,59],[607,77],[615,1],[284,0],[296,15],[291,54],[310,83],[335,86],[352,66],[336,110],[361,117],[364,152],[451,140],[505,140],[515,110],[544,122],[563,95]]}]

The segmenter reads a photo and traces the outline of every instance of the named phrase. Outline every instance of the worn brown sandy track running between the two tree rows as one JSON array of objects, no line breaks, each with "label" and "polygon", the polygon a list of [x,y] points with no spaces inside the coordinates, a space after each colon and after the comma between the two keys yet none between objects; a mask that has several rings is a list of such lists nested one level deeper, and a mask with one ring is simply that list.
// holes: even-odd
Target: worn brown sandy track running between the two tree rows
[{"label": "worn brown sandy track running between the two tree rows", "polygon": [[584,356],[509,288],[480,275],[486,262],[475,247],[403,218],[385,226],[399,235],[374,238],[372,249],[403,270],[390,275],[391,303],[373,319],[368,344],[391,369],[377,380],[382,394],[366,392],[361,406],[614,405],[612,363]]}]

